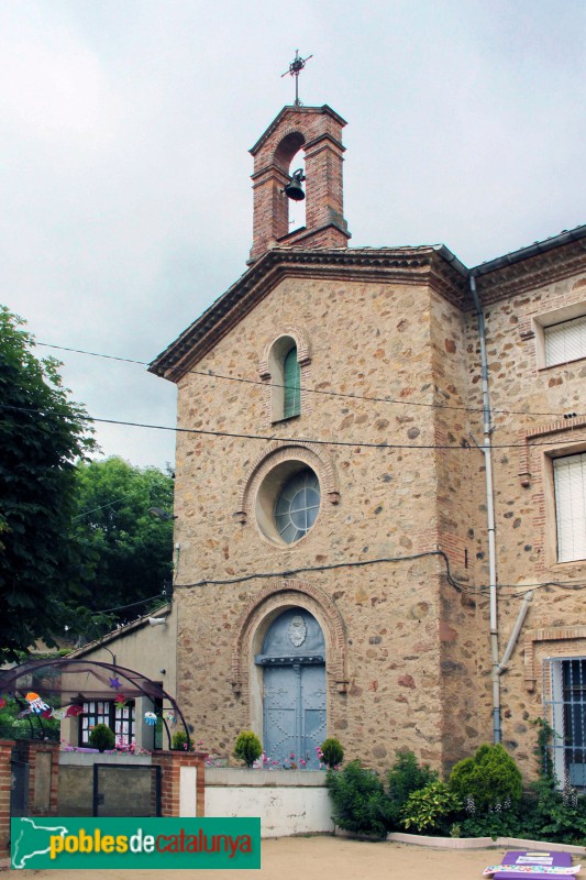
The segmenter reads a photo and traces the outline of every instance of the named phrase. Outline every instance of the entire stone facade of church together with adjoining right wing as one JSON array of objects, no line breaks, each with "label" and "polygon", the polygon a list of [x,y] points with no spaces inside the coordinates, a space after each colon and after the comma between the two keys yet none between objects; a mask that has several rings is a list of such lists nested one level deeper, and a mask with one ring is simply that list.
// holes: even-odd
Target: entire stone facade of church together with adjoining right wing
[{"label": "entire stone facade of church together with adjoining right wing", "polygon": [[[290,142],[287,110],[261,147]],[[555,561],[551,455],[568,439],[570,451],[586,448],[586,361],[545,369],[539,350],[540,316],[586,302],[584,232],[473,271],[494,407],[499,656],[524,585],[585,582],[584,560]],[[469,272],[445,248],[261,238],[248,272],[151,366],[179,389],[181,707],[195,739],[219,754],[241,729],[262,735],[255,656],[279,612],[303,608],[324,635],[327,730],[346,757],[385,769],[408,747],[446,769],[493,738]],[[273,420],[269,354],[280,337],[297,346],[301,411]],[[540,446],[544,438],[553,446]],[[270,475],[290,462],[317,474],[321,505],[307,535],[286,544],[263,527],[263,510]],[[542,659],[586,657],[582,608],[579,591],[538,588],[500,675],[502,738],[529,773]]]}]

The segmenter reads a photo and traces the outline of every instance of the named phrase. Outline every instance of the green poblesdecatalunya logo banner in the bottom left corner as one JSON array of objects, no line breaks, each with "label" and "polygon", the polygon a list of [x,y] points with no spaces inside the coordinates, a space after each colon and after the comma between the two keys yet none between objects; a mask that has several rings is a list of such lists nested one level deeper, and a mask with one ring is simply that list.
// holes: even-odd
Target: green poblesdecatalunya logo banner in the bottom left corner
[{"label": "green poblesdecatalunya logo banner in the bottom left corner", "polygon": [[261,867],[259,818],[53,818],[10,823],[12,868]]}]

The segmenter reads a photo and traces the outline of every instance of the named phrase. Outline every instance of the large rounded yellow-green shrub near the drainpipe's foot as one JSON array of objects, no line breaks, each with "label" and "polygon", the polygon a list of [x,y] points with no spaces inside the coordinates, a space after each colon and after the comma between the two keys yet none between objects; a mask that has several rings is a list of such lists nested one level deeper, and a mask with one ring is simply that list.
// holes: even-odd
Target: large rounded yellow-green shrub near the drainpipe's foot
[{"label": "large rounded yellow-green shrub near the drainpipe's foot", "polygon": [[516,806],[523,793],[521,772],[500,743],[480,746],[473,758],[458,761],[450,774],[449,785],[462,802],[472,798],[478,813],[507,799]]}]

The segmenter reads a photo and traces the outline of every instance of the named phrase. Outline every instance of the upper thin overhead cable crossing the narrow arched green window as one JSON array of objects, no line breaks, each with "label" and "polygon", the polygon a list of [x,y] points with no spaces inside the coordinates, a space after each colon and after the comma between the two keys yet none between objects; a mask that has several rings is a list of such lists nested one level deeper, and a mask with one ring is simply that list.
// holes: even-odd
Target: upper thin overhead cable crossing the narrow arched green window
[{"label": "upper thin overhead cable crossing the narrow arched green window", "polygon": [[[66,345],[53,345],[48,342],[37,342],[37,345],[43,345],[46,349],[56,349],[57,351],[68,351],[73,352],[74,354],[87,354],[90,358],[103,358],[107,361],[119,361],[121,363],[128,364],[137,364],[139,366],[148,366],[148,361],[136,361],[131,358],[120,358],[114,354],[101,354],[100,352],[95,351],[86,351],[85,349],[73,349]],[[203,376],[204,378],[217,378],[222,380],[224,382],[237,382],[245,385],[256,385],[261,388],[285,388],[285,385],[277,383],[277,382],[261,382],[259,380],[254,378],[244,378],[242,376],[226,376],[223,373],[214,373],[212,371],[206,370],[188,370],[188,373],[196,375],[196,376]],[[290,387],[290,386],[289,386]],[[297,385],[295,386],[296,391],[305,392],[306,394],[316,394],[321,395],[324,397],[342,397],[345,399],[352,400],[366,400],[368,403],[375,404],[394,404],[396,406],[413,406],[413,407],[423,407],[428,409],[453,409],[460,413],[483,413],[482,405],[477,407],[469,407],[469,406],[456,406],[454,404],[427,404],[421,403],[418,400],[399,400],[394,397],[377,397],[376,395],[367,395],[367,394],[357,394],[354,392],[336,392],[336,391],[328,391],[325,388],[310,388],[307,385]],[[546,416],[548,418],[563,418],[563,413],[528,413],[523,409],[493,409],[493,414],[499,415],[508,415],[508,416]],[[582,416],[584,414],[576,413],[576,416]]]}]

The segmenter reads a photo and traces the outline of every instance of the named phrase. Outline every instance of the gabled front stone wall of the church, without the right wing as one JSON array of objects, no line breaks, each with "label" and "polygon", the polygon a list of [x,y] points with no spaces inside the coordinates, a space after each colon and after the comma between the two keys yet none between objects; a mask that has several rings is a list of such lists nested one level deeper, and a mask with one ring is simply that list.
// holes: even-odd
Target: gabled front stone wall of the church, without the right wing
[{"label": "gabled front stone wall of the church, without the right wing", "polygon": [[[349,758],[388,767],[395,750],[406,746],[434,766],[453,758],[452,746],[443,754],[442,732],[445,725],[461,728],[463,718],[452,721],[452,711],[444,713],[442,664],[454,680],[449,689],[454,694],[462,691],[465,669],[465,698],[471,705],[463,712],[473,714],[472,651],[464,641],[455,649],[453,634],[466,628],[476,612],[445,586],[445,562],[430,553],[443,543],[454,574],[465,574],[461,531],[462,522],[469,525],[468,513],[457,501],[439,502],[438,484],[445,469],[457,474],[462,458],[478,453],[458,451],[457,459],[446,454],[440,461],[433,448],[425,448],[433,447],[438,433],[457,431],[460,437],[466,427],[454,425],[453,416],[441,421],[431,406],[439,395],[438,346],[443,359],[446,354],[446,332],[438,326],[443,318],[435,315],[443,307],[421,283],[287,278],[198,364],[197,374],[180,382],[181,427],[261,433],[265,388],[201,373],[257,382],[266,346],[284,328],[298,327],[309,340],[311,387],[396,402],[314,396],[299,418],[273,425],[272,448],[279,448],[279,440],[285,446],[291,437],[299,442],[311,438],[349,442],[311,447],[320,477],[329,475],[323,486],[328,480],[331,485],[328,493],[322,486],[314,528],[289,548],[259,534],[254,507],[242,509],[247,483],[270,451],[266,441],[179,435],[178,693],[195,725],[194,738],[203,739],[206,748],[229,754],[243,727],[262,733],[254,706],[257,685],[250,681],[255,676],[253,638],[258,640],[258,634],[251,632],[243,646],[248,680],[245,674],[244,684],[234,682],[232,670],[239,627],[245,626],[242,617],[259,592],[285,590],[279,572],[379,560],[300,573],[298,592],[277,602],[280,607],[297,603],[311,610],[332,648],[335,636],[328,603],[343,622],[345,672],[328,667],[328,726]],[[456,330],[454,324],[453,337]],[[455,365],[446,369],[445,378],[446,387],[453,382],[461,386],[446,392],[455,400],[464,394],[463,358],[458,343]],[[385,442],[388,448],[351,446],[353,440]],[[457,479],[469,488],[468,480]],[[253,573],[275,576],[268,586],[264,578],[189,586]],[[268,620],[270,608],[265,607],[264,616],[262,607],[258,612],[259,625]],[[471,637],[474,632],[466,634],[466,641]],[[455,653],[457,659],[451,657]]]}]

